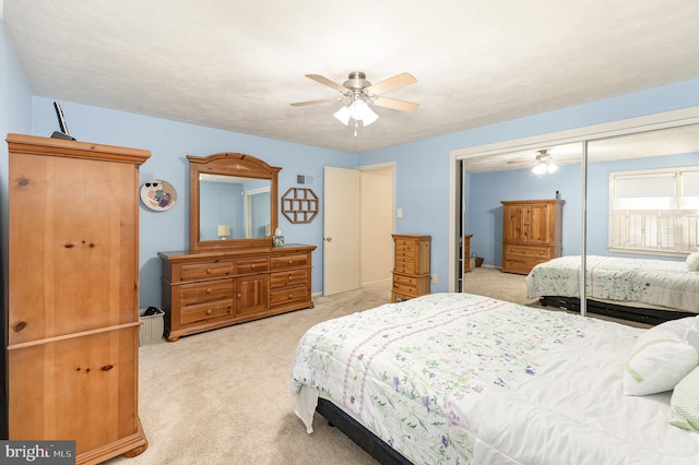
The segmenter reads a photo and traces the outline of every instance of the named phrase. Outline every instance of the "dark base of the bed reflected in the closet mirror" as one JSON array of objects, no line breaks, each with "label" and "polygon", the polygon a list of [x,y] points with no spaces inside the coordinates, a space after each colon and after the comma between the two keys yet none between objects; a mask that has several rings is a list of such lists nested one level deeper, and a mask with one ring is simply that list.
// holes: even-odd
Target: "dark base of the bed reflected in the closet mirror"
[{"label": "dark base of the bed reflected in the closet mirror", "polygon": [[[538,302],[543,307],[556,307],[576,312],[580,311],[580,299],[578,297],[544,296],[538,299]],[[601,302],[592,299],[588,299],[587,310],[590,313],[652,325],[679,318],[694,317],[694,313],[684,311],[627,307],[619,303]]]}]

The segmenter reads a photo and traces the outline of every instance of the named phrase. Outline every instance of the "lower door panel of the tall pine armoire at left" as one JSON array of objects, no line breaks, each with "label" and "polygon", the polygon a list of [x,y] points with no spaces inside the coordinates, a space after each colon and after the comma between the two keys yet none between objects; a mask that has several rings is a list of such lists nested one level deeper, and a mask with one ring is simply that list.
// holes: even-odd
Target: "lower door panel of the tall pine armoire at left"
[{"label": "lower door panel of the tall pine armoire at left", "polygon": [[132,326],[9,350],[10,439],[74,440],[81,454],[132,434],[138,331]]}]

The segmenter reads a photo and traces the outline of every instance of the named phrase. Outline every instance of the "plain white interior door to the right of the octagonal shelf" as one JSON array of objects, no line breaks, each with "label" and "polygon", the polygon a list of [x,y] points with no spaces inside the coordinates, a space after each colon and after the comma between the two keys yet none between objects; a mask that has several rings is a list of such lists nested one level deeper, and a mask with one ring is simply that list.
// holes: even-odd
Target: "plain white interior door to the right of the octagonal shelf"
[{"label": "plain white interior door to the right of the octagonal shelf", "polygon": [[358,289],[359,171],[324,169],[323,295]]}]

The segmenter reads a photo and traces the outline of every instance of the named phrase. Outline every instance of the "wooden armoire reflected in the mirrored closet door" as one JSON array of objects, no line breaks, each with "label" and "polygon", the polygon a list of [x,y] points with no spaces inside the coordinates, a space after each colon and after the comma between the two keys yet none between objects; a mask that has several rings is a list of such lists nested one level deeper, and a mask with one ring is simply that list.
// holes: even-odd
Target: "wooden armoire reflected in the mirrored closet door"
[{"label": "wooden armoire reflected in the mirrored closet door", "polygon": [[502,271],[529,274],[560,257],[564,201],[502,201]]}]

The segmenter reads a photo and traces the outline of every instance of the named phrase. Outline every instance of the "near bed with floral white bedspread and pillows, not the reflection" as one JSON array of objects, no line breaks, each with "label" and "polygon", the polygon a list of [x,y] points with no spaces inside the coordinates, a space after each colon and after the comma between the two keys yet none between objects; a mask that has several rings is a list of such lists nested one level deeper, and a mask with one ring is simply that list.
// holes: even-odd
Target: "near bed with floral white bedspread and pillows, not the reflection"
[{"label": "near bed with floral white bedspread and pillows, not the reflection", "polygon": [[[643,347],[684,351],[649,368]],[[435,294],[308,330],[291,393],[309,433],[322,407],[382,463],[696,465],[698,351],[697,317],[642,330]]]}]

